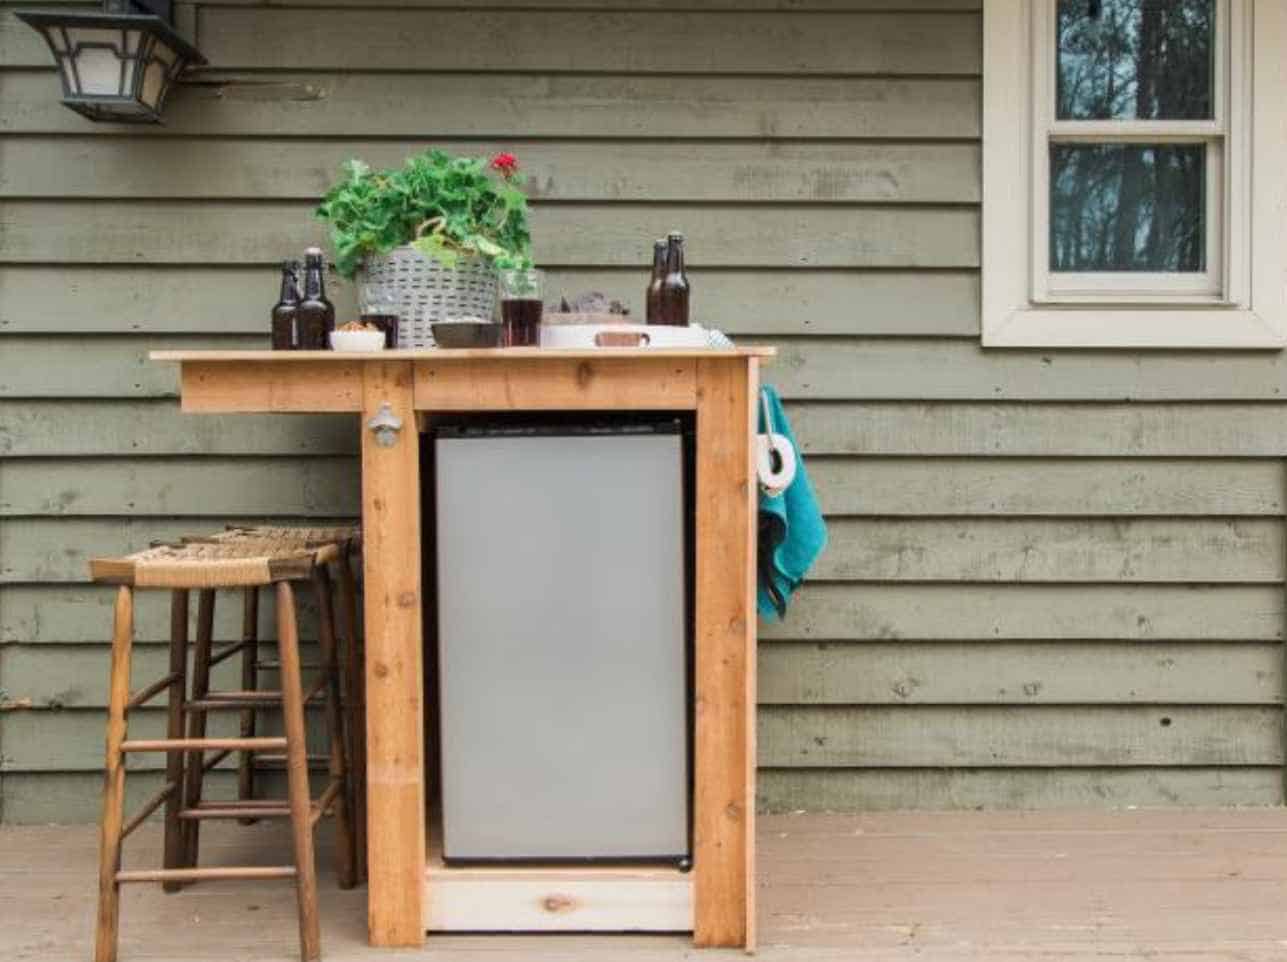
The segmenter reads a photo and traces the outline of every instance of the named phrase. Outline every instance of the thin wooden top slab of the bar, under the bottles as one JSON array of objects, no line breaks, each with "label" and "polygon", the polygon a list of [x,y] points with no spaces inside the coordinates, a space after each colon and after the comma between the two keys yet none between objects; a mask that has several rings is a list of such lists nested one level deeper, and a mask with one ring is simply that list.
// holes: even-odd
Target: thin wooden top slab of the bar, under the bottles
[{"label": "thin wooden top slab of the bar, under the bottles", "polygon": [[584,359],[596,361],[620,358],[624,361],[640,361],[645,358],[772,358],[777,354],[777,348],[752,346],[752,348],[470,348],[466,350],[448,348],[417,348],[398,350],[153,350],[148,354],[152,361],[178,361],[178,362],[301,362],[301,361],[329,361],[337,364],[347,364],[355,361],[519,361],[529,358],[539,359]]}]

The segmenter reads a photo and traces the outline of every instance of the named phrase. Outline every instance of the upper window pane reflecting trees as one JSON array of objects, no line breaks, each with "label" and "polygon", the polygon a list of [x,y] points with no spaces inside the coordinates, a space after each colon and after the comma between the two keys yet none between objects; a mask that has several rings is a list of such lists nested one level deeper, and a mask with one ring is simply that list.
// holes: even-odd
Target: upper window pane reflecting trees
[{"label": "upper window pane reflecting trees", "polygon": [[1210,120],[1215,0],[1059,0],[1059,120]]}]

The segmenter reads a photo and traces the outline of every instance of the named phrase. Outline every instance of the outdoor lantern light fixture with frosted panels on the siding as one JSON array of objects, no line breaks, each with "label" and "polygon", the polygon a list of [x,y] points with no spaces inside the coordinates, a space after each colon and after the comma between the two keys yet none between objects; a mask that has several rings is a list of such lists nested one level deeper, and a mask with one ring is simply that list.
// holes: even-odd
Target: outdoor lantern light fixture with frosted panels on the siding
[{"label": "outdoor lantern light fixture with frosted panels on the siding", "polygon": [[102,10],[14,10],[54,53],[63,103],[94,121],[160,124],[175,77],[206,63],[174,32],[171,0],[103,0]]}]

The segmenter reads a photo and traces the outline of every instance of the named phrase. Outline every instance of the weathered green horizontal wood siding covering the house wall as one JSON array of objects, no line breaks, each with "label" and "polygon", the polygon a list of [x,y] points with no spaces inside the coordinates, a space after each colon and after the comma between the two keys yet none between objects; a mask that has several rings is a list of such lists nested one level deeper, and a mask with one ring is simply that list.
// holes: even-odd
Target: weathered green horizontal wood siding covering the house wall
[{"label": "weathered green horizontal wood siding covering the house wall", "polygon": [[762,625],[762,806],[1282,801],[1287,358],[978,346],[978,0],[180,3],[212,64],[136,129],[10,6],[0,819],[97,814],[86,559],[356,510],[351,417],[181,416],[145,355],[263,345],[338,162],[429,144],[520,156],[556,290],[638,310],[681,228],[698,316],[779,346],[831,546]]}]

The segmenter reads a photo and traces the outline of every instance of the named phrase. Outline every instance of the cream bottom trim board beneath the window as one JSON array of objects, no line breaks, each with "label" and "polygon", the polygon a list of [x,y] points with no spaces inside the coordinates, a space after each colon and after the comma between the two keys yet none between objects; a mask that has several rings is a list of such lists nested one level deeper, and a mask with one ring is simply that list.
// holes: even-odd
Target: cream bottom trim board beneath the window
[{"label": "cream bottom trim board beneath the window", "polygon": [[1281,319],[1230,308],[1022,309],[983,323],[985,348],[1281,350]]}]

